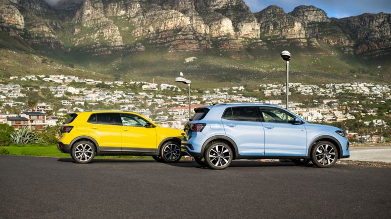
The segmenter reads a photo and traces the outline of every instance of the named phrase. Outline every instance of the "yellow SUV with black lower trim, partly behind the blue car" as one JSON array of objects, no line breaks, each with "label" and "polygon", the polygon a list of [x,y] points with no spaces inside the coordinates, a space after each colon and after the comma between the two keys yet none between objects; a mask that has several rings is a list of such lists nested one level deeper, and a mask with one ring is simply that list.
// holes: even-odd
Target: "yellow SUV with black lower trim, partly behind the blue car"
[{"label": "yellow SUV with black lower trim, partly behind the blue car", "polygon": [[183,131],[160,128],[145,117],[120,110],[71,113],[57,143],[77,163],[90,163],[95,155],[152,156],[159,162],[181,158]]}]

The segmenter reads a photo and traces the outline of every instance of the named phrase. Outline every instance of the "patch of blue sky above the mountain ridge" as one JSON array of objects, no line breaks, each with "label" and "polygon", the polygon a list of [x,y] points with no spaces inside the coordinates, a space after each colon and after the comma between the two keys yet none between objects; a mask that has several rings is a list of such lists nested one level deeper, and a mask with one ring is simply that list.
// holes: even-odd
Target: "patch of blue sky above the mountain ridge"
[{"label": "patch of blue sky above the mountain ridge", "polygon": [[332,18],[345,18],[363,13],[391,13],[391,0],[244,0],[252,12],[259,12],[269,5],[277,5],[286,13],[299,5],[314,5],[326,11]]}]

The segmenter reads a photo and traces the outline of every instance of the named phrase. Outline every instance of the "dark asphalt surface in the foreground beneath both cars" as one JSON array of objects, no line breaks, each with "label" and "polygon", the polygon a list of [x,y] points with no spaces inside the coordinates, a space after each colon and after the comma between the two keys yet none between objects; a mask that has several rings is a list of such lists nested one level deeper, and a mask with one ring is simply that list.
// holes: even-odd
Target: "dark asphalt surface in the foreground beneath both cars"
[{"label": "dark asphalt surface in the foreground beneath both cars", "polygon": [[389,218],[391,168],[0,156],[0,218]]}]

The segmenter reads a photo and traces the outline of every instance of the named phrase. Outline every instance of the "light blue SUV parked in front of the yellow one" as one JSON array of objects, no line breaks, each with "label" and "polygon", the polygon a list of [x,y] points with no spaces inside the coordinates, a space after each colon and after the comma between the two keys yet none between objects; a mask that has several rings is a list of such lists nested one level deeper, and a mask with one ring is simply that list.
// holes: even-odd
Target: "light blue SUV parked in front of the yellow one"
[{"label": "light blue SUV parked in front of the yellow one", "polygon": [[344,130],[310,124],[265,103],[196,108],[185,131],[181,151],[212,169],[225,169],[235,159],[290,159],[330,167],[349,157]]}]

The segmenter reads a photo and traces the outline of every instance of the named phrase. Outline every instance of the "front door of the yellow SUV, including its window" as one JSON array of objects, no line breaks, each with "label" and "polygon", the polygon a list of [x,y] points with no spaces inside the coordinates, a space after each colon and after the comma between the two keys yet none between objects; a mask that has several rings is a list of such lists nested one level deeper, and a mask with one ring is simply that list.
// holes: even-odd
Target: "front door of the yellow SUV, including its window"
[{"label": "front door of the yellow SUV, including its window", "polygon": [[155,152],[156,128],[141,116],[121,113],[122,151]]}]

